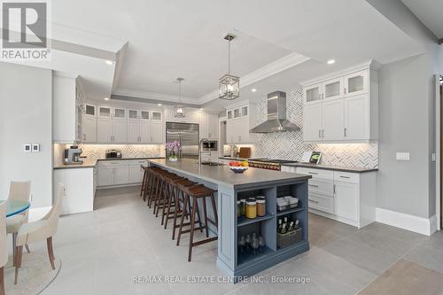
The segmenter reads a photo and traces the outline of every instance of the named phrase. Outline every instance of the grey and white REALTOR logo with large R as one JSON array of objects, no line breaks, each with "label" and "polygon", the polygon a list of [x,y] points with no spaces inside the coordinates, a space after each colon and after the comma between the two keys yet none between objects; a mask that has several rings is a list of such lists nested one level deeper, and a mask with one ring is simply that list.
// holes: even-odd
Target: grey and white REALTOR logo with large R
[{"label": "grey and white REALTOR logo with large R", "polygon": [[1,59],[48,60],[48,3],[2,2]]}]

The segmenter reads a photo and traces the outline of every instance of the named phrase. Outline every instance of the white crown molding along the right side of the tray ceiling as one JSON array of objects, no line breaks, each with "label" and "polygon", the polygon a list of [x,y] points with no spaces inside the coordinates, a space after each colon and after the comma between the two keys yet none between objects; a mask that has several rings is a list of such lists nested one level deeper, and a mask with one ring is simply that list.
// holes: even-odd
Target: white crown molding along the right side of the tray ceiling
[{"label": "white crown molding along the right side of the tray ceiling", "polygon": [[[251,85],[255,82],[258,82],[260,80],[266,79],[274,74],[283,72],[284,70],[287,70],[292,66],[297,66],[301,63],[304,63],[309,59],[311,58],[307,58],[297,52],[288,54],[283,58],[277,59],[276,61],[273,61],[272,63],[266,66],[262,66],[259,69],[240,77],[240,89],[244,88],[245,86]],[[211,100],[217,98],[218,95],[219,95],[218,90],[214,90],[204,95],[203,97],[199,97],[198,98],[199,104],[206,104],[207,102],[210,102]]]}]

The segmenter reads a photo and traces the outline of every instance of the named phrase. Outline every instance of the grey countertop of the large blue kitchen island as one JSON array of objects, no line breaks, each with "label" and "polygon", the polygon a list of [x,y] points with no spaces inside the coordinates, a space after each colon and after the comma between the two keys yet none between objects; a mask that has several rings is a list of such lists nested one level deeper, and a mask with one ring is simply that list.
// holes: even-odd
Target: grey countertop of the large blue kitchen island
[{"label": "grey countertop of the large blue kitchen island", "polygon": [[153,165],[165,167],[177,173],[194,176],[207,182],[223,184],[235,189],[257,184],[266,185],[269,183],[303,181],[311,178],[310,175],[299,175],[253,167],[250,167],[242,174],[237,174],[231,171],[229,166],[199,166],[195,159],[178,159],[176,162],[171,162],[167,159],[148,159],[148,161]]}]

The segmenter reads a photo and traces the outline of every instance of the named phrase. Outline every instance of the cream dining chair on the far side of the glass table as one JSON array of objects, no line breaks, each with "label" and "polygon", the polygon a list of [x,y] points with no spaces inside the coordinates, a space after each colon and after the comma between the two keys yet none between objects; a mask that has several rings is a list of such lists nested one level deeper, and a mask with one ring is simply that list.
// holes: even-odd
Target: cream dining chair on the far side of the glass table
[{"label": "cream dining chair on the far side of the glass table", "polygon": [[[31,197],[31,182],[11,182],[9,187],[8,199],[13,201],[29,202]],[[15,251],[15,241],[17,240],[17,233],[22,224],[27,223],[29,217],[29,210],[24,213],[19,213],[6,218],[6,234],[12,234],[12,249]],[[29,247],[26,245],[27,252]],[[15,252],[14,252],[15,253]],[[15,266],[15,255],[13,257]]]}]

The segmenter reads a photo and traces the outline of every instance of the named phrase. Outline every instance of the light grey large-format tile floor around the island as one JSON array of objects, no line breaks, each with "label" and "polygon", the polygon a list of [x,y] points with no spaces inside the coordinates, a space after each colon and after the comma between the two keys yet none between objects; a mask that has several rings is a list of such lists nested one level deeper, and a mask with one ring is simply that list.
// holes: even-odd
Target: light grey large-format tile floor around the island
[{"label": "light grey large-format tile floor around the island", "polygon": [[[310,214],[311,250],[260,274],[308,276],[310,283],[133,283],[134,276],[223,276],[215,266],[216,242],[195,248],[187,262],[187,238],[175,246],[138,192],[99,190],[93,213],[60,219],[54,247],[62,268],[43,295],[343,295],[361,291],[400,260],[443,273],[443,233],[425,237],[380,223],[358,230]],[[31,249],[45,251],[43,244]]]}]

